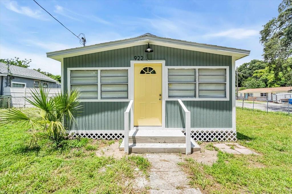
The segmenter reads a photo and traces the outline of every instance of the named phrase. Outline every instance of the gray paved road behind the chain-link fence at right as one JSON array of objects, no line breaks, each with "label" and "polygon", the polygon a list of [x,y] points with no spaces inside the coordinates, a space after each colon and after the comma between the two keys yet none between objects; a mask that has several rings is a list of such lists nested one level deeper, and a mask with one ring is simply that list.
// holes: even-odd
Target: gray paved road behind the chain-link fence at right
[{"label": "gray paved road behind the chain-link fence at right", "polygon": [[[236,101],[237,107],[242,107],[242,101]],[[244,108],[253,108],[253,103],[250,101],[244,102]],[[267,111],[267,103],[262,102],[255,102],[254,109],[264,110]],[[288,113],[288,104],[278,104],[278,103],[271,103],[268,104],[268,112],[286,112]],[[292,105],[289,105],[290,114],[292,113]]]}]

